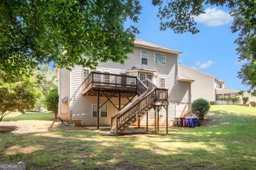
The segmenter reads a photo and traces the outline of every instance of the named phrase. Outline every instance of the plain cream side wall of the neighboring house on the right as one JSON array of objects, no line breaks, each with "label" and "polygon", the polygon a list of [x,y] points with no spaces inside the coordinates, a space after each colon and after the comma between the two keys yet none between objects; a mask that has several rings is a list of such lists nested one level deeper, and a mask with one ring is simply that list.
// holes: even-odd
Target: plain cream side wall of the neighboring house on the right
[{"label": "plain cream side wall of the neighboring house on the right", "polygon": [[199,72],[184,65],[179,65],[179,73],[195,80],[191,84],[191,101],[198,98],[204,98],[208,101],[215,100],[215,84],[213,76]]}]

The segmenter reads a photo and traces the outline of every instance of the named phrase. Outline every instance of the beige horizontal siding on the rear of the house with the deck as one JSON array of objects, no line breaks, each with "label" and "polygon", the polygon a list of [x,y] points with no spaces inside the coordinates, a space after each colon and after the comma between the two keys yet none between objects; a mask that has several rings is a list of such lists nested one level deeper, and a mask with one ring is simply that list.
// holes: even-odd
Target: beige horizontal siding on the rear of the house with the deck
[{"label": "beige horizontal siding on the rear of the house with the deck", "polygon": [[[141,64],[141,50],[148,52],[148,65]],[[166,55],[166,65],[155,64],[155,53]],[[169,89],[169,120],[175,117],[177,103],[190,103],[190,83],[178,81],[178,60],[177,55],[170,53],[157,52],[156,50],[136,48],[133,54],[129,54],[129,59],[124,65],[118,63],[99,63],[97,70],[110,73],[124,73],[131,67],[145,67],[155,70],[158,77],[154,78],[154,83],[159,87],[159,78],[165,78],[165,86]],[[95,125],[96,118],[92,117],[92,104],[97,104],[96,97],[82,96],[81,83],[83,81],[83,69],[76,66],[70,73],[69,79],[69,113],[72,115],[72,120],[82,120],[83,125]],[[112,98],[114,99],[114,98]],[[102,104],[105,98],[100,98]],[[126,101],[122,98],[122,105]],[[118,105],[117,98],[114,99],[114,104]],[[108,117],[100,117],[101,125],[110,125],[111,116],[116,113],[116,108],[109,102]],[[141,123],[145,122],[146,117]],[[150,119],[150,121],[153,121]],[[163,117],[161,123],[165,121],[165,109],[163,109]]]}]

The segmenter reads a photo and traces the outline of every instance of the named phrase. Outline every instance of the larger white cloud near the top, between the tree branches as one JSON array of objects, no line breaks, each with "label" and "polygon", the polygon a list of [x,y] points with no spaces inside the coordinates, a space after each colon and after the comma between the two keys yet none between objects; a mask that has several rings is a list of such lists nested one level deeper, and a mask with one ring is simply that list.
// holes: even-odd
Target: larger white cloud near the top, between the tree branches
[{"label": "larger white cloud near the top, between the tree branches", "polygon": [[207,8],[204,14],[195,16],[194,19],[196,22],[203,23],[204,25],[209,27],[218,27],[220,25],[225,25],[233,20],[228,12],[218,10],[217,7]]}]

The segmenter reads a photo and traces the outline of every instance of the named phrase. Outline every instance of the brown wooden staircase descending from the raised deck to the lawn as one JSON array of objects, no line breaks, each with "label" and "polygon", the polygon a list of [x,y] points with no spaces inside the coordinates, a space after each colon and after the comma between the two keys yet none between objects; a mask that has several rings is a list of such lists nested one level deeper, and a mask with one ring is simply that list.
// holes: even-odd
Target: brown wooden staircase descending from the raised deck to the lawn
[{"label": "brown wooden staircase descending from the raised deck to the lawn", "polygon": [[131,124],[146,114],[156,103],[168,103],[168,90],[157,88],[149,79],[141,82],[137,78],[137,93],[139,97],[111,117],[111,133],[121,134]]}]

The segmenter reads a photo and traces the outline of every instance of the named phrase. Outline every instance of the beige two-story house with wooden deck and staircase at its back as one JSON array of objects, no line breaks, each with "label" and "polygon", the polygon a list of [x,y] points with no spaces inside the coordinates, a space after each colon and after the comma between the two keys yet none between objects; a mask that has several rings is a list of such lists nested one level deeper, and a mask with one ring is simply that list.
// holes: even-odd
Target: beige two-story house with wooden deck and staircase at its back
[{"label": "beige two-story house with wooden deck and staircase at its back", "polygon": [[134,44],[123,65],[107,62],[96,71],[81,66],[55,71],[62,120],[97,128],[111,125],[121,132],[130,124],[167,125],[189,111],[193,80],[178,75],[181,52],[141,39]]}]

